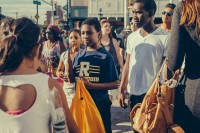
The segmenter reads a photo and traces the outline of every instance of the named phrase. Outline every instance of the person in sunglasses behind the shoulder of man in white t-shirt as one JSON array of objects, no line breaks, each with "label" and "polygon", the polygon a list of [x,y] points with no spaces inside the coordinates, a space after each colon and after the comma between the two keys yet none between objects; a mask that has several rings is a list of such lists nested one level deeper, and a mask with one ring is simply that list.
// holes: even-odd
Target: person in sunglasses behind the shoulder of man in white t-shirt
[{"label": "person in sunglasses behind the shoulder of man in white t-shirt", "polygon": [[164,11],[162,11],[162,24],[157,25],[167,32],[171,31],[172,17],[173,17],[175,7],[176,7],[175,4],[168,3],[165,6]]}]

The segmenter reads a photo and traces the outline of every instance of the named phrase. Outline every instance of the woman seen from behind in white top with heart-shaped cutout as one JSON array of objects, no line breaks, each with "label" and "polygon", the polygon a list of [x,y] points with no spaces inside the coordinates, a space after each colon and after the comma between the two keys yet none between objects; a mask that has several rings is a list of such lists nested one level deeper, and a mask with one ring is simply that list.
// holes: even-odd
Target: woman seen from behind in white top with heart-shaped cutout
[{"label": "woman seen from behind in white top with heart-shaped cutout", "polygon": [[0,42],[0,132],[49,133],[58,122],[53,129],[67,131],[66,120],[69,131],[78,132],[61,86],[36,71],[42,50],[39,26],[19,18],[13,27]]}]

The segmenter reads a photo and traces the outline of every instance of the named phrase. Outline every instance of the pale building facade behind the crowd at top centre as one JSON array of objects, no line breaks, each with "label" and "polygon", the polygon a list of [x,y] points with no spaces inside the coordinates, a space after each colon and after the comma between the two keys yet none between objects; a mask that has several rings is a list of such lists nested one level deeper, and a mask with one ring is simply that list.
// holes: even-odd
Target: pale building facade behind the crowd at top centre
[{"label": "pale building facade behind the crowd at top centre", "polygon": [[[71,26],[76,27],[76,23],[84,19],[91,18],[106,18],[117,25],[124,25],[124,18],[132,19],[132,11],[128,10],[129,5],[134,0],[67,0],[66,5],[70,13],[69,19]],[[179,0],[155,0],[157,4],[157,12],[155,19],[161,18],[162,11],[167,3],[177,4]],[[127,13],[125,13],[127,12]],[[128,23],[128,22],[127,22]]]}]

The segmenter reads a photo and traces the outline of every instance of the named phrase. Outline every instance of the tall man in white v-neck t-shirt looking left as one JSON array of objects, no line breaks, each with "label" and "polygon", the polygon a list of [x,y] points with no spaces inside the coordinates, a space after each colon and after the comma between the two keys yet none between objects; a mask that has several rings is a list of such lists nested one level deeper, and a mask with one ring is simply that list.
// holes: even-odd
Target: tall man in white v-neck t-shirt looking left
[{"label": "tall man in white v-neck t-shirt looking left", "polygon": [[127,89],[130,109],[142,102],[151,86],[166,55],[168,40],[168,33],[153,22],[154,0],[135,0],[132,12],[134,24],[141,28],[128,36],[127,58],[119,88],[120,106],[126,106],[124,92]]}]

